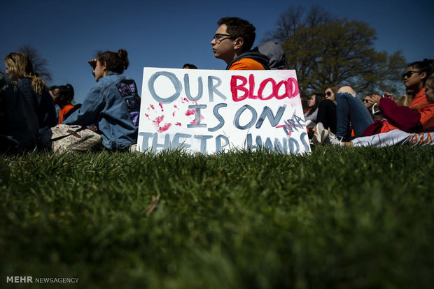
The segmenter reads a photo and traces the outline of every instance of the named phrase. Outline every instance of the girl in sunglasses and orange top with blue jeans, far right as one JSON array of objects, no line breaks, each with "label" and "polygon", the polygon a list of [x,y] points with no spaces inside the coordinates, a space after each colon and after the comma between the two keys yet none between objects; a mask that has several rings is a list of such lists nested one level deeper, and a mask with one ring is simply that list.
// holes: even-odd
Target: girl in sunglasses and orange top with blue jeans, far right
[{"label": "girl in sunglasses and orange top with blue jeans, far right", "polygon": [[[332,143],[349,140],[346,131],[349,123],[356,138],[360,136],[386,133],[400,129],[407,133],[434,130],[434,103],[425,95],[425,82],[433,71],[433,60],[424,59],[407,66],[402,74],[407,93],[417,91],[409,107],[399,106],[391,98],[372,96],[379,103],[383,115],[380,121],[374,121],[367,112],[363,102],[351,87],[342,87],[337,93],[337,132],[336,135],[321,131],[321,142],[328,138]],[[385,96],[386,93],[385,93]]]}]

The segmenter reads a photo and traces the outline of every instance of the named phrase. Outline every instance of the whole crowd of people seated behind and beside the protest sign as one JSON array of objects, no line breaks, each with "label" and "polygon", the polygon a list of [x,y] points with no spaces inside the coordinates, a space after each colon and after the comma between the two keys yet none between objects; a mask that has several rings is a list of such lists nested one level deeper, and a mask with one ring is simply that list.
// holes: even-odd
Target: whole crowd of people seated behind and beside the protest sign
[{"label": "whole crowd of people seated behind and beside the protest sign", "polygon": [[[254,40],[255,27],[250,22],[223,17],[218,20],[211,45],[214,56],[225,61],[227,70],[285,68],[281,45],[269,41],[252,49]],[[50,144],[42,141],[42,135],[62,124],[92,127],[101,135],[105,149],[125,151],[137,143],[141,99],[136,82],[123,74],[130,65],[127,51],[98,52],[88,63],[96,83],[82,104],[73,105],[71,84],[48,88],[25,53],[11,52],[5,57],[7,76],[1,75],[1,109],[6,110],[5,99],[15,97],[13,105],[9,101],[13,108],[7,109],[20,109],[16,115],[27,121],[14,124],[9,112],[1,113],[7,124],[0,134],[2,140],[7,140],[2,143],[1,152],[50,149]],[[197,66],[185,64],[183,68],[197,69]],[[431,60],[409,64],[402,74],[406,94],[400,98],[387,92],[360,98],[351,87],[328,84],[323,94],[316,92],[306,100],[304,119],[309,140],[312,144],[344,144],[353,138],[397,128],[409,133],[433,130],[434,104],[427,93],[432,93],[431,73]],[[29,137],[11,133],[18,126],[21,134],[27,133]]]}]

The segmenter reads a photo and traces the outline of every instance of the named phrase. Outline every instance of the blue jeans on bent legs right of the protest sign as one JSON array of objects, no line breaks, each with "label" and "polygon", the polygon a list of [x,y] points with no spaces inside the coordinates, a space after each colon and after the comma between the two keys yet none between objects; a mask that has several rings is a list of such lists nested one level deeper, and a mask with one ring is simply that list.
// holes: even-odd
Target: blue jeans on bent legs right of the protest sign
[{"label": "blue jeans on bent legs right of the protest sign", "polygon": [[339,138],[349,139],[347,133],[350,121],[356,138],[360,137],[363,131],[374,122],[363,101],[357,95],[352,96],[348,92],[339,92],[336,106],[336,135]]}]

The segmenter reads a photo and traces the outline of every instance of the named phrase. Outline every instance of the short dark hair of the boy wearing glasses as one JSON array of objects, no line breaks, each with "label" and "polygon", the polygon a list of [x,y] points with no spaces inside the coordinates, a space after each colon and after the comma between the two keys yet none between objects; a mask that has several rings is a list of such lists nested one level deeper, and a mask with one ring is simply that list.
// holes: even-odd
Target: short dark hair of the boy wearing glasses
[{"label": "short dark hair of the boy wearing glasses", "polygon": [[239,17],[223,17],[221,20],[218,20],[217,24],[218,26],[226,24],[228,27],[228,34],[237,38],[243,38],[244,44],[242,52],[251,49],[256,38],[256,28],[253,26],[253,24],[246,20],[242,20]]}]

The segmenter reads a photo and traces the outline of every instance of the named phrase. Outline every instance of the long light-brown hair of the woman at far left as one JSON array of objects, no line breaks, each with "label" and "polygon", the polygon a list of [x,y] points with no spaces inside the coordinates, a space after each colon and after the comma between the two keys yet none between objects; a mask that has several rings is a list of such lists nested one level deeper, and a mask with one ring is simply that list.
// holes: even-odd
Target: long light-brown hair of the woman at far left
[{"label": "long light-brown hair of the woman at far left", "polygon": [[[35,94],[42,94],[42,91],[47,87],[43,79],[34,73],[33,66],[27,54],[22,52],[10,52],[4,58],[6,68],[18,77],[18,80],[23,78],[31,79],[31,88]],[[14,81],[16,82],[16,81]]]}]

